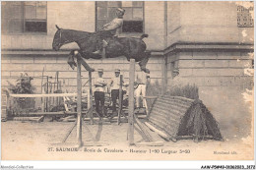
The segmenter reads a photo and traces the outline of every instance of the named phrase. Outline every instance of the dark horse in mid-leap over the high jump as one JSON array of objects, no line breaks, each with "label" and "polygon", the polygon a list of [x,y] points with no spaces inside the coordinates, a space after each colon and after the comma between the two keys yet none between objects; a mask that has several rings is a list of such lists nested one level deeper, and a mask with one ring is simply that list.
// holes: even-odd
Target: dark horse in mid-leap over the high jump
[{"label": "dark horse in mid-leap over the high jump", "polygon": [[[97,31],[87,32],[81,30],[64,29],[56,26],[52,48],[56,51],[61,46],[76,42],[80,50],[72,50],[68,57],[68,64],[72,69],[75,68],[76,63],[74,56],[80,54],[85,59],[101,59],[102,55],[94,54],[96,51],[96,45],[98,43]],[[112,37],[108,39],[108,45],[105,47],[105,58],[116,58],[125,56],[128,61],[135,59],[139,62],[139,66],[145,73],[150,73],[150,70],[146,68],[151,53],[146,51],[146,43],[143,41],[144,37],[148,37],[148,34],[142,34],[140,38],[135,37]],[[92,69],[93,71],[93,69]]]}]

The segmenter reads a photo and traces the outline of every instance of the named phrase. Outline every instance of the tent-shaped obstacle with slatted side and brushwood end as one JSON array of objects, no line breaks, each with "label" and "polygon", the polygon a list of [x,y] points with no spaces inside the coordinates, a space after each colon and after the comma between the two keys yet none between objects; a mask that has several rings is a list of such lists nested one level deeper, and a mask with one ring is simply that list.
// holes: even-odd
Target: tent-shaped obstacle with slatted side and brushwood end
[{"label": "tent-shaped obstacle with slatted side and brushwood end", "polygon": [[157,98],[145,122],[166,141],[223,141],[218,123],[201,100],[164,94]]}]

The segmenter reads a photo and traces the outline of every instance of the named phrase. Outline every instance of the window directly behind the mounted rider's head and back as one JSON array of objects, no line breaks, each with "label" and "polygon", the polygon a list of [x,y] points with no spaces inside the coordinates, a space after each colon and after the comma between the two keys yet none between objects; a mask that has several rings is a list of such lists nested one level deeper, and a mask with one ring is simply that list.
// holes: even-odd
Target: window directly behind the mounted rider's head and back
[{"label": "window directly behind the mounted rider's head and back", "polygon": [[143,32],[143,2],[140,1],[101,1],[96,2],[96,29],[102,28],[115,18],[116,8],[125,10],[123,32]]}]

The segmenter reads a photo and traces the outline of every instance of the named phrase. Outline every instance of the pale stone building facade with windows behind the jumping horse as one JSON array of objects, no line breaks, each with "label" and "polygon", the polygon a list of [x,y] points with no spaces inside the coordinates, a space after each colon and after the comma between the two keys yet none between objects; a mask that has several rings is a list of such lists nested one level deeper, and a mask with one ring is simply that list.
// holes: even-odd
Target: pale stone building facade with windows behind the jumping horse
[{"label": "pale stone building facade with windows behind the jumping horse", "polygon": [[[199,86],[200,98],[217,119],[243,112],[225,106],[238,102],[235,97],[243,102],[242,93],[253,86],[252,2],[12,3],[2,2],[2,86],[6,80],[15,81],[20,72],[37,77],[44,71],[54,77],[58,71],[69,91],[75,91],[76,71],[66,62],[69,50],[78,46],[71,43],[53,51],[55,25],[93,32],[113,18],[116,7],[122,7],[126,10],[123,35],[149,34],[144,40],[152,51],[148,68],[153,83],[167,90],[172,71],[178,69],[180,77]],[[129,63],[124,57],[87,62],[95,69],[103,68],[104,78],[121,69],[128,80]],[[140,72],[138,66],[136,71]],[[82,75],[87,82],[88,74],[83,71]],[[40,78],[33,80],[38,93],[40,82]]]}]

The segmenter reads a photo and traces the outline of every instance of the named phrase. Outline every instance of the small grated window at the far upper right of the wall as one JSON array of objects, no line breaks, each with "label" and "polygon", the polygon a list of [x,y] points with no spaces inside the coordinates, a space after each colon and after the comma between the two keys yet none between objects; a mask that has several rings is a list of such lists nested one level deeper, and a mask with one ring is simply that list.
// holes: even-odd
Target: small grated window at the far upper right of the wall
[{"label": "small grated window at the far upper right of the wall", "polygon": [[238,28],[253,28],[253,5],[245,8],[243,6],[237,6],[237,26]]}]

